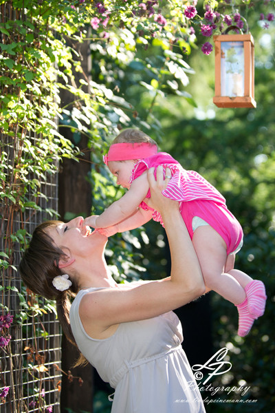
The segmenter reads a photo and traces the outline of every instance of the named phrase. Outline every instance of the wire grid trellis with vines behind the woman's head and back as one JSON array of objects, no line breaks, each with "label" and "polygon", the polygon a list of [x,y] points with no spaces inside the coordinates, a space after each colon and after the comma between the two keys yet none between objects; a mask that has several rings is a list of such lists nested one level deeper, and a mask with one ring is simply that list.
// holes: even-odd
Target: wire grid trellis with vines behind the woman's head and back
[{"label": "wire grid trellis with vines behind the woman's head and back", "polygon": [[[12,165],[14,140],[3,134],[1,151],[8,151],[8,163]],[[1,413],[60,411],[61,330],[56,315],[50,312],[50,304],[22,286],[15,269],[19,265],[21,246],[10,237],[19,229],[32,233],[37,224],[52,218],[45,209],[57,210],[57,174],[47,174],[45,178],[45,182],[41,182],[41,195],[35,197],[40,207],[38,211],[26,208],[22,213],[10,200],[0,204],[1,251],[7,252],[7,248],[12,248],[10,256],[14,266],[2,269],[0,282],[3,287],[0,315],[9,311],[14,316],[12,326],[8,329],[12,339],[8,346],[0,348],[0,389],[10,388],[8,395],[0,399]],[[29,199],[34,200],[34,195],[29,196]],[[34,308],[35,305],[39,307],[39,315],[28,310],[28,306]],[[18,318],[22,312],[29,313],[23,324]],[[52,409],[49,409],[50,406]]]}]

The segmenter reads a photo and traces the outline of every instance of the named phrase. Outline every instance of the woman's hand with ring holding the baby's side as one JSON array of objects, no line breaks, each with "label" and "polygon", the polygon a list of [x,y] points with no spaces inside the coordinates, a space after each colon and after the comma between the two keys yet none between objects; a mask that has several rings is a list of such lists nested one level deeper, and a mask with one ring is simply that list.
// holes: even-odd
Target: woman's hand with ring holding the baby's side
[{"label": "woman's hand with ring holding the baby's side", "polygon": [[151,191],[151,198],[149,198],[148,200],[146,199],[146,204],[148,204],[148,207],[151,207],[159,211],[159,213],[164,213],[164,211],[167,211],[168,209],[178,210],[179,202],[170,200],[162,194],[162,191],[166,189],[170,177],[172,175],[170,169],[166,168],[164,176],[164,168],[159,165],[157,167],[156,179],[154,176],[154,170],[155,168],[150,168],[147,172],[147,178]]}]

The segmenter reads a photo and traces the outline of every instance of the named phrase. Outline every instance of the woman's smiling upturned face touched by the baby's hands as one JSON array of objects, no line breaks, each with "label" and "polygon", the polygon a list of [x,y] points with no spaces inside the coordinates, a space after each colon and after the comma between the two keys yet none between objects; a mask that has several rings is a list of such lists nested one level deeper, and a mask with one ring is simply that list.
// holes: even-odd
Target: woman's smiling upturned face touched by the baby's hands
[{"label": "woman's smiling upturned face touched by the baby's hands", "polygon": [[89,226],[83,226],[83,217],[74,218],[67,223],[57,222],[56,225],[48,226],[45,231],[52,237],[54,243],[64,253],[73,257],[89,257],[94,251],[104,249],[107,237],[98,231],[92,232]]}]

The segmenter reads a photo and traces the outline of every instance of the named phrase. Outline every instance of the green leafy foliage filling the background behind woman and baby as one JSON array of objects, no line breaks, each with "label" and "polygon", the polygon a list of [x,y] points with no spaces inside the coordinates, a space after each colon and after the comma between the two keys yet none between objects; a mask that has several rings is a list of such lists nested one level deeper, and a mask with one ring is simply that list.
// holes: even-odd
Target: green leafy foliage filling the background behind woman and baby
[{"label": "green leafy foliage filling the background behind woman and baby", "polygon": [[[0,1],[0,6],[3,3]],[[7,211],[39,208],[36,194],[45,172],[56,173],[56,161],[62,162],[62,157],[80,158],[75,145],[85,135],[91,151],[88,179],[93,189],[94,212],[100,213],[122,195],[102,166],[101,155],[108,143],[121,127],[135,126],[150,134],[186,169],[195,169],[212,182],[243,225],[244,246],[236,266],[253,278],[263,279],[267,310],[255,321],[250,335],[241,339],[236,335],[234,306],[212,295],[214,347],[219,350],[227,346],[232,362],[230,374],[215,384],[245,382],[251,387],[248,397],[257,399],[256,410],[273,412],[275,32],[274,28],[264,32],[258,23],[263,2],[256,2],[260,3],[257,12],[250,10],[250,30],[256,45],[256,109],[217,109],[212,105],[214,56],[201,54],[199,45],[205,39],[198,36],[196,41],[188,27],[177,33],[173,24],[169,25],[167,32],[179,34],[181,39],[171,47],[170,35],[158,32],[153,22],[129,19],[129,9],[123,8],[122,1],[114,3],[109,38],[102,36],[102,30],[90,32],[89,21],[96,13],[93,2],[89,7],[64,0],[8,3],[16,10],[24,7],[26,16],[25,20],[0,25],[4,39],[0,125],[4,134],[18,139],[21,148],[12,167],[8,167],[7,153],[1,151],[0,195]],[[161,3],[167,15],[168,6],[173,4],[175,16],[181,18],[179,1]],[[243,1],[237,3],[241,5]],[[248,6],[250,1],[246,3]],[[274,2],[270,4],[274,6]],[[129,8],[133,5],[137,2],[129,1]],[[203,14],[202,1],[198,10]],[[135,30],[131,30],[133,27]],[[157,35],[151,36],[152,32]],[[89,74],[83,71],[81,56],[77,56],[74,47],[75,42],[85,38],[91,48]],[[186,47],[188,53],[183,54],[180,47]],[[81,76],[76,82],[77,72]],[[74,95],[72,105],[62,107],[58,96],[63,88]],[[60,126],[74,131],[74,142],[63,139],[62,127],[56,129],[56,118]],[[35,145],[24,139],[27,128],[39,136]],[[30,170],[32,178],[28,176]],[[32,198],[27,195],[29,188]],[[24,233],[21,244],[25,241]],[[142,252],[149,242],[150,251],[147,248],[144,256]],[[124,282],[140,276],[166,275],[164,248],[162,229],[155,223],[146,225],[146,233],[137,229],[112,237],[107,257],[115,279]],[[2,254],[7,258],[3,260],[3,271],[11,255],[12,248]],[[100,406],[98,397],[96,403]],[[242,403],[206,406],[207,411],[218,413],[248,409],[251,406]]]}]

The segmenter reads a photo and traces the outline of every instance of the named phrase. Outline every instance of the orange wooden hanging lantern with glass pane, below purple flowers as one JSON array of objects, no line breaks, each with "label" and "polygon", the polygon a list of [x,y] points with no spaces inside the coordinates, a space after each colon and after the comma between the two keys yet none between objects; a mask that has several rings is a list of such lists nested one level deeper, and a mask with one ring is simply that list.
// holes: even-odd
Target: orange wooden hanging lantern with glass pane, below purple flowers
[{"label": "orange wooden hanging lantern with glass pane, below purple flowers", "polygon": [[256,107],[252,35],[220,34],[214,36],[214,46],[214,104],[218,107]]}]

